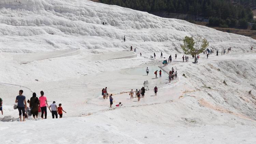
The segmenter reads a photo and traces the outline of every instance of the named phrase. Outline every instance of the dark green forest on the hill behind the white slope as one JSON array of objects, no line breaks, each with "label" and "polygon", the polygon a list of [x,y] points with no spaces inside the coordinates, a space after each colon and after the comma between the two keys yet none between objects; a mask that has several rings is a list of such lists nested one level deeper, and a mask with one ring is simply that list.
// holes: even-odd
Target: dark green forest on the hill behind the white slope
[{"label": "dark green forest on the hill behind the white slope", "polygon": [[[253,0],[254,1],[254,0]],[[145,12],[170,12],[209,18],[209,26],[238,27],[246,29],[253,13],[239,3],[223,0],[101,0]],[[199,20],[198,18],[192,20]],[[191,19],[190,19],[191,20]]]}]

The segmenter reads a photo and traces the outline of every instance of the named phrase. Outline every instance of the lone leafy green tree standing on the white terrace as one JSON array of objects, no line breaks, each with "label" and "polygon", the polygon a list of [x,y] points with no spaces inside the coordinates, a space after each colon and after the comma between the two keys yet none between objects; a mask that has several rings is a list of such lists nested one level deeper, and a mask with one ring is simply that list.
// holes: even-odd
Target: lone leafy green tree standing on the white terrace
[{"label": "lone leafy green tree standing on the white terrace", "polygon": [[207,39],[186,36],[183,40],[183,45],[181,45],[181,48],[185,54],[194,55],[196,63],[196,55],[202,53],[208,46],[209,42]]}]

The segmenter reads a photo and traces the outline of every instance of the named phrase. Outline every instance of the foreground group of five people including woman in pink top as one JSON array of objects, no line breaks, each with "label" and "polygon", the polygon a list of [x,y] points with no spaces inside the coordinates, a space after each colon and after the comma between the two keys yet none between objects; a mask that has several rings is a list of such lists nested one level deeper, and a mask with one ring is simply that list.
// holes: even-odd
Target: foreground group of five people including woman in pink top
[{"label": "foreground group of five people including woman in pink top", "polygon": [[18,109],[20,121],[22,121],[22,116],[23,116],[23,121],[25,121],[25,118],[31,115],[33,115],[33,118],[35,117],[38,118],[41,115],[42,119],[44,118],[46,119],[47,107],[52,113],[53,118],[54,116],[58,118],[58,114],[60,118],[62,118],[62,111],[63,112],[65,111],[62,109],[61,103],[59,104],[59,107],[57,107],[57,105],[55,104],[55,101],[53,101],[53,104],[48,106],[47,98],[44,96],[44,92],[40,91],[40,94],[41,96],[38,98],[37,94],[34,92],[30,100],[27,101],[29,104],[29,107],[27,107],[26,97],[23,96],[23,90],[19,90],[19,95],[16,96],[16,99],[15,99],[15,103],[17,103],[17,105],[14,105],[14,109]]}]

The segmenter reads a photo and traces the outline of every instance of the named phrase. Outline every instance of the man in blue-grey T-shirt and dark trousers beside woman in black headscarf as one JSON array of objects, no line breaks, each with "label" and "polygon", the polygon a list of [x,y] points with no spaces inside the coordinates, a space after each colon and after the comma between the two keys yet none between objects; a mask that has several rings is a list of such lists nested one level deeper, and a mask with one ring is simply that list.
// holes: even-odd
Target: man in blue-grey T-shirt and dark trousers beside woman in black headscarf
[{"label": "man in blue-grey T-shirt and dark trousers beside woman in black headscarf", "polygon": [[[25,121],[25,110],[27,110],[27,102],[26,102],[26,97],[22,95],[23,90],[19,90],[19,95],[15,99],[15,103],[18,103],[17,108],[19,110],[19,120],[22,121],[23,116],[23,121]],[[25,103],[25,104],[24,104]]]}]

